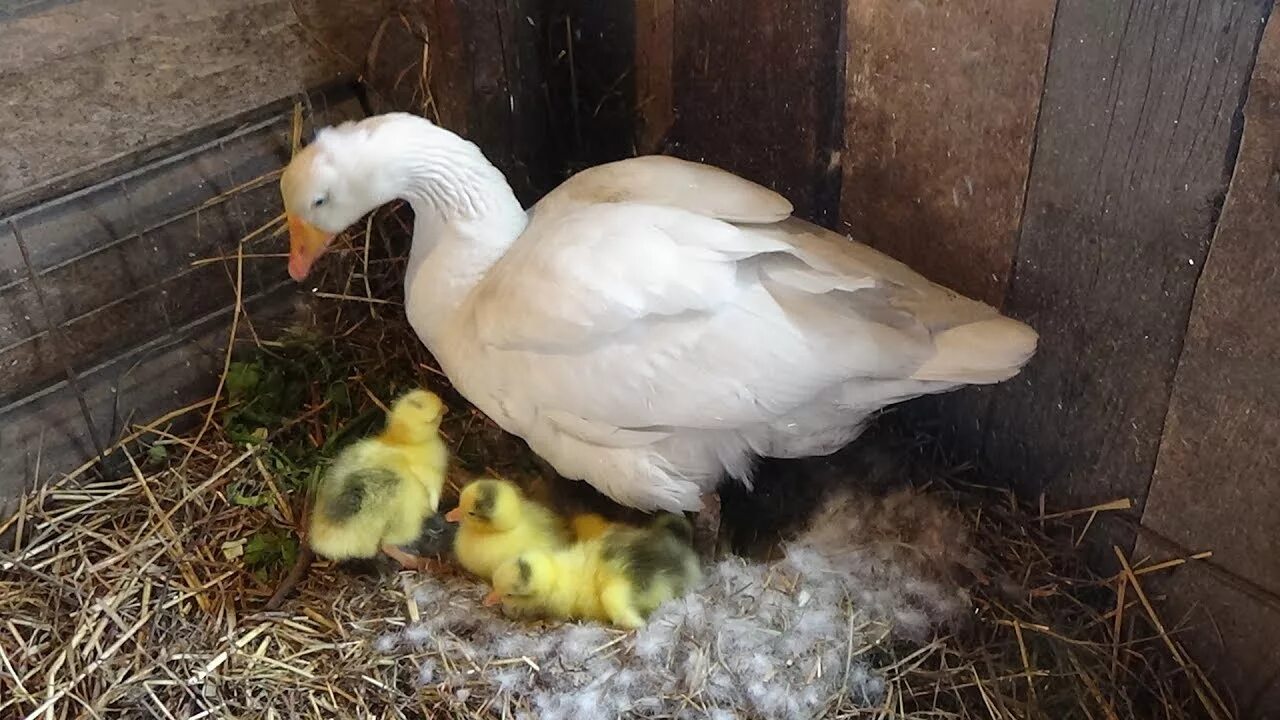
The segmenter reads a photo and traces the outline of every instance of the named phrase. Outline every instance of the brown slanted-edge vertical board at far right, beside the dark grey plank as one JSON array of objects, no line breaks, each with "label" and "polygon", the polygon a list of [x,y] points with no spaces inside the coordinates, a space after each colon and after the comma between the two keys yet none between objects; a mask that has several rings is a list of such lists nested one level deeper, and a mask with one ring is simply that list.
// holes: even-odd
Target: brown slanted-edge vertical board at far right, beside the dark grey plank
[{"label": "brown slanted-edge vertical board at far right, beside the dark grey plank", "polygon": [[1280,28],[1249,83],[1231,190],[1196,290],[1144,524],[1280,592]]}]

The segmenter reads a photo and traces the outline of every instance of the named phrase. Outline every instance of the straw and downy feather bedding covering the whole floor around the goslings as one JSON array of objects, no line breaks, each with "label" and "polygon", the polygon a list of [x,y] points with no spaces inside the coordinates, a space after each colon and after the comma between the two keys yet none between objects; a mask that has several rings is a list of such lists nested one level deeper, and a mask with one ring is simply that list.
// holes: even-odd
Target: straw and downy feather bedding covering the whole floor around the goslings
[{"label": "straw and downy feather bedding covering the whole floor around the goslings", "polygon": [[[280,231],[252,236],[275,241]],[[1115,507],[1046,516],[932,464],[925,503],[952,509],[966,529],[923,521],[947,515],[929,515],[916,495],[837,496],[828,511],[845,525],[819,520],[826,530],[772,564],[709,570],[709,588],[744,583],[773,597],[772,616],[751,610],[759,598],[708,591],[664,609],[637,635],[590,625],[503,633],[502,620],[471,607],[481,589],[470,582],[324,562],[283,610],[262,611],[296,553],[314,473],[376,423],[397,389],[424,378],[451,407],[443,432],[465,474],[521,479],[543,498],[573,495],[452,392],[388,300],[399,297],[407,236],[394,209],[380,211],[335,251],[325,290],[302,306],[314,315],[307,332],[269,341],[255,331],[261,323],[242,316],[216,398],[134,427],[114,450],[124,477],[82,468],[0,524],[10,538],[0,551],[0,716],[502,717],[540,702],[607,702],[603,692],[557,696],[529,678],[567,682],[577,662],[594,682],[593,662],[623,653],[666,657],[654,671],[669,674],[655,685],[659,697],[617,707],[627,715],[716,706],[722,716],[762,717],[812,708],[842,717],[1231,715],[1143,592],[1147,574],[1170,562],[1126,561],[1117,577],[1080,562],[1082,534]],[[253,250],[242,252],[220,260],[232,278],[243,277]],[[878,541],[835,552],[847,544],[846,525]],[[963,534],[972,542],[959,542]],[[980,562],[956,551],[966,547]],[[814,580],[832,573],[846,580]],[[968,597],[957,589],[965,584]],[[966,602],[973,614],[959,629],[928,630]],[[818,612],[797,615],[801,606]],[[751,666],[742,653],[759,646],[735,623],[756,620],[788,628],[760,642],[808,653],[814,666],[777,667],[781,655],[767,652],[776,675]],[[705,628],[695,633],[698,621]],[[901,639],[886,635],[895,625]],[[717,626],[719,635],[709,634]],[[795,639],[818,634],[827,639],[809,647]],[[466,644],[475,638],[489,639]],[[727,661],[726,642],[739,643]],[[636,688],[649,682],[645,671],[627,665],[614,682]],[[722,673],[730,680],[718,680]],[[755,675],[764,696],[746,679]],[[794,692],[769,700],[765,678],[786,678]],[[716,694],[726,685],[748,701],[730,707],[730,696]]]}]

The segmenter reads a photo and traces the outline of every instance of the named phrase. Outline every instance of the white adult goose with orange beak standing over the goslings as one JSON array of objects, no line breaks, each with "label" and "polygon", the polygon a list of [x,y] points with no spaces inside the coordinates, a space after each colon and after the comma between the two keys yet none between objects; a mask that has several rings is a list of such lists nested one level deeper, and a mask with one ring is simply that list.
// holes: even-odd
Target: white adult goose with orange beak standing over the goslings
[{"label": "white adult goose with orange beak standing over the goslings", "polygon": [[526,213],[475,145],[397,113],[321,131],[280,190],[298,281],[408,201],[404,306],[453,386],[643,510],[698,510],[758,455],[833,452],[884,405],[1004,380],[1036,350],[1028,325],[698,163],[591,168]]}]

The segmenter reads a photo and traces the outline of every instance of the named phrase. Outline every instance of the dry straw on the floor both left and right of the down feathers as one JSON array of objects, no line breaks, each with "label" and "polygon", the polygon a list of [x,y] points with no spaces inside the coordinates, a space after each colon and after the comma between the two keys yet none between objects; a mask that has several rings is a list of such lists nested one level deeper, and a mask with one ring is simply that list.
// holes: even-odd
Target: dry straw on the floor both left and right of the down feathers
[{"label": "dry straw on the floor both left and right of the down feathers", "polygon": [[[234,278],[246,263],[282,263],[279,222],[246,238],[273,245],[244,242],[223,259]],[[283,610],[262,610],[296,555],[324,459],[408,384],[445,397],[463,473],[540,477],[521,442],[452,392],[403,322],[392,299],[407,236],[396,209],[347,236],[305,331],[264,340],[237,313],[218,396],[134,427],[113,450],[128,474],[96,478],[87,465],[23,501],[0,552],[0,716],[502,717],[518,707],[419,685],[430,647],[374,647],[422,612],[410,577],[385,566],[316,564]],[[987,557],[973,623],[884,653],[883,702],[846,698],[833,716],[1231,716],[1144,592],[1170,564],[1120,555],[1123,573],[1097,577],[1076,555],[1093,518],[1123,505],[1046,515],[947,473],[931,492],[964,511]]]}]

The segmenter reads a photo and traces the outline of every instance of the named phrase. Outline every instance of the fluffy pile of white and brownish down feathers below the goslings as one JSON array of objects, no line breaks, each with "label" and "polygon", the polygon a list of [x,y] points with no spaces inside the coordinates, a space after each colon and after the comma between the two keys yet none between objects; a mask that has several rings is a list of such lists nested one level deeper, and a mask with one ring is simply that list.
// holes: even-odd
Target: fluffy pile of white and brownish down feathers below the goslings
[{"label": "fluffy pile of white and brownish down feathers below the goslings", "polygon": [[378,646],[430,653],[420,683],[517,717],[814,717],[879,702],[881,650],[965,616],[970,547],[928,496],[842,491],[782,560],[722,560],[634,634],[512,623],[480,606],[477,583],[428,577],[415,591],[424,620]]}]

